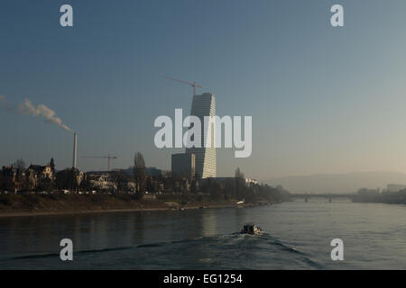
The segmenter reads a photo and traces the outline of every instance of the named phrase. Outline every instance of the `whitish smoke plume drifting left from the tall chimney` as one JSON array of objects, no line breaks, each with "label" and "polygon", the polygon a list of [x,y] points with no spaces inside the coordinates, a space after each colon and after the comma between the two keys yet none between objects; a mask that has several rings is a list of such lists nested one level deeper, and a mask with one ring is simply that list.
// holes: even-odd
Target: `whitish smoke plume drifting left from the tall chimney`
[{"label": "whitish smoke plume drifting left from the tall chimney", "polygon": [[17,112],[20,115],[41,116],[46,122],[55,123],[60,126],[60,128],[73,132],[67,125],[62,123],[60,118],[55,117],[53,110],[43,104],[35,106],[29,99],[24,99],[23,103],[20,103],[16,109],[12,109],[5,99],[5,96],[0,95],[0,106],[5,107],[7,110]]}]

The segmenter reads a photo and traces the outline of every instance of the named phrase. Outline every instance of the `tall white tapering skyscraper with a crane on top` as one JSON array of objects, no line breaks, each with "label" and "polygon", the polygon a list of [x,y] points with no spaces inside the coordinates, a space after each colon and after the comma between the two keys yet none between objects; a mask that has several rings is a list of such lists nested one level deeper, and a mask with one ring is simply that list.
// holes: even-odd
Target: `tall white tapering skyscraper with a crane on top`
[{"label": "tall white tapering skyscraper with a crane on top", "polygon": [[[186,148],[186,153],[195,154],[195,171],[198,178],[216,177],[216,148],[214,146],[215,124],[211,123],[208,127],[205,127],[204,121],[205,116],[216,115],[216,99],[214,94],[204,93],[194,95],[190,115],[198,116],[200,119],[202,127],[202,147]],[[208,131],[208,135],[211,136],[208,140],[212,144],[210,148],[206,148],[204,145],[205,129],[211,130]]]}]

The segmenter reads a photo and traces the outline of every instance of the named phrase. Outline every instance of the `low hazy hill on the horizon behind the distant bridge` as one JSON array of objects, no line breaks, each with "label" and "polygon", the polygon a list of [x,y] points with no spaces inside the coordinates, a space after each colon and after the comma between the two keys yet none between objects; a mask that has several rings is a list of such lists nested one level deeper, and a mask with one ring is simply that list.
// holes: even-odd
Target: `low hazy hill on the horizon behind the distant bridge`
[{"label": "low hazy hill on the horizon behind the distant bridge", "polygon": [[291,193],[354,193],[359,188],[386,188],[387,184],[406,184],[406,174],[398,172],[355,172],[348,174],[299,175],[265,181],[282,185]]}]

